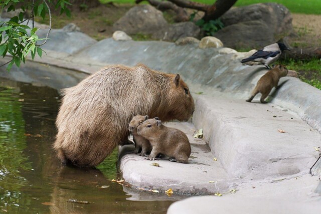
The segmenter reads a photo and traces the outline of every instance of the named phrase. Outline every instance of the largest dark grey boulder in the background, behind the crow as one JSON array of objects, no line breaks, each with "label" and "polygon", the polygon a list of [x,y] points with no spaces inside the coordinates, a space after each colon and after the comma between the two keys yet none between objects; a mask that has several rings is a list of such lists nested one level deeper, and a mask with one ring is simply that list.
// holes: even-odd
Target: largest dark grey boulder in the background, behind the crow
[{"label": "largest dark grey boulder in the background, behind the crow", "polygon": [[221,21],[225,28],[215,37],[230,48],[261,48],[293,32],[289,10],[275,3],[233,8]]}]

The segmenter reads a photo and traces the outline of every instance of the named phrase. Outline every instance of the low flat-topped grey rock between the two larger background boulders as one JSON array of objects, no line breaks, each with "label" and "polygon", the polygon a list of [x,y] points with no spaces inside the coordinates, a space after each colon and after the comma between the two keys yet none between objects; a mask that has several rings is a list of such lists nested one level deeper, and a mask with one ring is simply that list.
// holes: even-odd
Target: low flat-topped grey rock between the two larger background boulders
[{"label": "low flat-topped grey rock between the two larger background boulders", "polygon": [[165,41],[176,41],[184,37],[198,37],[200,28],[193,22],[181,22],[169,25],[167,28],[160,29],[152,34],[153,38]]}]

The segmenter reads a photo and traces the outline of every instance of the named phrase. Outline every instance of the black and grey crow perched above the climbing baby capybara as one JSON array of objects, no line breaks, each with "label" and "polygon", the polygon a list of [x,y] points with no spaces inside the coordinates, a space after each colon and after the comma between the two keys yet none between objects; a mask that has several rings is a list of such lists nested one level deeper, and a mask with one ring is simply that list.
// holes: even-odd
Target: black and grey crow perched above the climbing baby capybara
[{"label": "black and grey crow perched above the climbing baby capybara", "polygon": [[252,56],[242,59],[241,63],[255,61],[260,62],[268,69],[271,69],[269,64],[275,62],[284,50],[290,50],[283,43],[278,42],[272,45],[265,46],[263,49],[256,51]]}]

